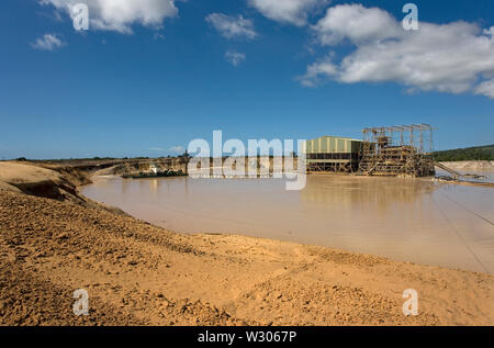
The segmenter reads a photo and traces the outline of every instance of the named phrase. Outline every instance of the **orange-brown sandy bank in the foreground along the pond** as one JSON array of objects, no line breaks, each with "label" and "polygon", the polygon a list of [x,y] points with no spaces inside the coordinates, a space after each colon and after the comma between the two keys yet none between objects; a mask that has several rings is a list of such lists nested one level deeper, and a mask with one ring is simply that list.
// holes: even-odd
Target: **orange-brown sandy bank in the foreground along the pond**
[{"label": "orange-brown sandy bank in the foreground along the pond", "polygon": [[[494,325],[492,276],[176,234],[70,199],[74,172],[38,169],[0,166],[1,325]],[[47,181],[67,190],[40,197],[53,190],[35,183]],[[88,316],[72,313],[77,289]],[[417,316],[402,313],[406,289],[418,293]]]}]

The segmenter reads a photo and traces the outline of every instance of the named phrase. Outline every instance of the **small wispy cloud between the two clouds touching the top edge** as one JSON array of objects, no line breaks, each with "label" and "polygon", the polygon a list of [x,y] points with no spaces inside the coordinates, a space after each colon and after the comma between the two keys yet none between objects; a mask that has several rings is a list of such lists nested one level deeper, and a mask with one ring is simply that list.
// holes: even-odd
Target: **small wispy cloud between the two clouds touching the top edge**
[{"label": "small wispy cloud between the two clouds touching the top edge", "polygon": [[257,36],[252,21],[246,20],[242,15],[232,16],[223,13],[211,13],[205,20],[226,38],[246,37],[251,40]]}]

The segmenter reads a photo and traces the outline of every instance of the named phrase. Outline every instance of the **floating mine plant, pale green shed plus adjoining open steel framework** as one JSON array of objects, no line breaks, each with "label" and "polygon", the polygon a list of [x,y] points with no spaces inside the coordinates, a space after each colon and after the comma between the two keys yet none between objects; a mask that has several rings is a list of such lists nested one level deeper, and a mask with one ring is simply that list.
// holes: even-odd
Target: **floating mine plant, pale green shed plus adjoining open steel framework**
[{"label": "floating mine plant, pale green shed plus adjoining open steel framework", "polygon": [[361,141],[322,136],[305,143],[308,172],[427,177],[435,175],[431,154],[428,124],[363,128]]}]

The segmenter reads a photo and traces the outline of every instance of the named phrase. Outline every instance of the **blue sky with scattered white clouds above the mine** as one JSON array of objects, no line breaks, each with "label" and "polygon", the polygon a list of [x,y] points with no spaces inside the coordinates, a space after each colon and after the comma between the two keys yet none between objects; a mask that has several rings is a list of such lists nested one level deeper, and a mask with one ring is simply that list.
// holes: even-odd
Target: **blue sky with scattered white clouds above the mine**
[{"label": "blue sky with scattered white clouds above the mine", "polygon": [[415,0],[419,31],[397,0],[90,0],[78,32],[71,2],[0,2],[0,159],[408,123],[437,149],[494,143],[492,0]]}]

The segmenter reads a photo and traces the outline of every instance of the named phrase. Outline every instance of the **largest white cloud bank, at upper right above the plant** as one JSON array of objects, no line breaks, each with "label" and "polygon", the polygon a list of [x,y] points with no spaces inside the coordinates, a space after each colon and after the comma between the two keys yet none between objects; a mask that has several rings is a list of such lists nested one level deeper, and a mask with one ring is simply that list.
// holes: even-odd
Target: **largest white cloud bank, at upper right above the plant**
[{"label": "largest white cloud bank, at upper right above the plant", "polygon": [[405,31],[388,12],[360,4],[329,8],[313,26],[322,45],[348,41],[356,49],[336,61],[334,55],[307,67],[300,78],[314,86],[322,79],[345,83],[395,81],[408,90],[493,97],[494,26],[419,23]]}]

